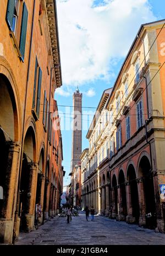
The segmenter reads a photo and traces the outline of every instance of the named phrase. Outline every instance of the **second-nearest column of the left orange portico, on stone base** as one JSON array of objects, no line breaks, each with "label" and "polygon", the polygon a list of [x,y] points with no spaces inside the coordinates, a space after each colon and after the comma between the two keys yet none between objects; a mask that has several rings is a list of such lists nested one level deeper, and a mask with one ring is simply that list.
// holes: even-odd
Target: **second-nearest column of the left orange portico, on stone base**
[{"label": "second-nearest column of the left orange portico, on stone base", "polygon": [[37,163],[27,163],[29,169],[29,188],[27,192],[27,214],[26,214],[26,231],[34,230],[35,221],[35,202],[37,189]]}]

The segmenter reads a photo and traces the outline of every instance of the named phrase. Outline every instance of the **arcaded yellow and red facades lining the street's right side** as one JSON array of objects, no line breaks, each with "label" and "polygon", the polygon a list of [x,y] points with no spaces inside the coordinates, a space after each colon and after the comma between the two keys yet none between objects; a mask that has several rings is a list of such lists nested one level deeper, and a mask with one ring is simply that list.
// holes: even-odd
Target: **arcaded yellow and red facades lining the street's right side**
[{"label": "arcaded yellow and red facades lining the street's right side", "polygon": [[164,22],[141,25],[114,86],[103,93],[86,136],[90,167],[82,184],[84,198],[90,198],[89,206],[98,205],[98,214],[160,232],[165,221]]}]

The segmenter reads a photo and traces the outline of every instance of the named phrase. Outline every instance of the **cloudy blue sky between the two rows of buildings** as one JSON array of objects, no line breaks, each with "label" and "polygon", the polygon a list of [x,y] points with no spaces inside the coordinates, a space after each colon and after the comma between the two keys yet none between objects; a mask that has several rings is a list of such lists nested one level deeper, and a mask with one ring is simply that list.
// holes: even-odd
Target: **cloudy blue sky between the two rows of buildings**
[{"label": "cloudy blue sky between the two rows of buildings", "polygon": [[79,86],[86,111],[84,149],[102,92],[113,86],[140,25],[164,19],[164,10],[164,0],[57,0],[63,86],[55,99],[62,122],[64,185],[70,183],[73,121],[73,108],[65,106],[73,105],[72,95]]}]

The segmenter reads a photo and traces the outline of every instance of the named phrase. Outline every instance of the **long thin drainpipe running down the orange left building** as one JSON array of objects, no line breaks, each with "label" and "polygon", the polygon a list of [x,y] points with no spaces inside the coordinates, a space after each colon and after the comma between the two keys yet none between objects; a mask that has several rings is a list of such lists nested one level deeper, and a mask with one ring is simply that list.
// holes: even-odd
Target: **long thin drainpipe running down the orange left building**
[{"label": "long thin drainpipe running down the orange left building", "polygon": [[29,60],[28,60],[28,66],[27,66],[26,92],[25,92],[25,104],[24,104],[24,116],[23,116],[23,132],[22,132],[22,138],[21,138],[20,165],[19,165],[18,191],[17,191],[17,205],[16,205],[16,210],[15,210],[14,227],[13,227],[13,243],[14,243],[15,237],[16,237],[17,220],[18,220],[18,212],[19,212],[19,199],[20,199],[19,191],[20,191],[21,169],[22,169],[22,162],[23,162],[23,143],[24,143],[24,130],[25,130],[27,85],[28,85],[28,81],[29,81],[29,70],[30,70],[31,48],[32,48],[32,36],[33,36],[33,27],[34,27],[34,15],[35,15],[35,0],[33,2],[33,10],[32,10],[32,24],[31,24],[31,34],[30,34],[30,50],[29,50]]}]

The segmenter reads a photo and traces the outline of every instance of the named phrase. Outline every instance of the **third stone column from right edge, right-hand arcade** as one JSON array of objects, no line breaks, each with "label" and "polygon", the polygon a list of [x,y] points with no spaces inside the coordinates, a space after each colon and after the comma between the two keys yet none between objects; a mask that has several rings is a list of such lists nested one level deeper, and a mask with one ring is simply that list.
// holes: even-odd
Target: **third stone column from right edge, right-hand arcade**
[{"label": "third stone column from right edge, right-hand arcade", "polygon": [[130,191],[129,182],[125,182],[125,188],[126,188],[126,196],[127,196],[127,214],[128,214],[126,216],[126,222],[134,223],[135,217],[133,217],[133,208],[131,206],[131,191]]}]

